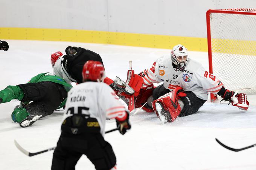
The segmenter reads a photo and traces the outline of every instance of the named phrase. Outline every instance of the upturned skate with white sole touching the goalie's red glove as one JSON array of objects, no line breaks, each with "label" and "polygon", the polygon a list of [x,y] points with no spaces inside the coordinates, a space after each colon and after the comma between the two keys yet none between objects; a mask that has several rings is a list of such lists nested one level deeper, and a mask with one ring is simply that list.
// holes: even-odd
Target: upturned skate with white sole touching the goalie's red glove
[{"label": "upturned skate with white sole touching the goalie's red glove", "polygon": [[115,90],[119,91],[117,95],[120,95],[122,92],[125,92],[128,95],[132,95],[135,92],[133,88],[131,88],[131,86],[129,86],[119,77],[116,77],[116,79],[114,80],[114,83],[112,83],[112,86]]}]

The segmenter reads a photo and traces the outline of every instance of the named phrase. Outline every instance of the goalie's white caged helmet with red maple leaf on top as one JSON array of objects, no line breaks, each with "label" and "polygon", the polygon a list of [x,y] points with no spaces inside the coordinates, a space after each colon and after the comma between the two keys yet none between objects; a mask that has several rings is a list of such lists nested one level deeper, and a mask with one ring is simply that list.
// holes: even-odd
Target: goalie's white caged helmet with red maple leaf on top
[{"label": "goalie's white caged helmet with red maple leaf on top", "polygon": [[187,64],[187,48],[180,44],[175,45],[171,51],[171,59],[180,71],[184,71]]}]

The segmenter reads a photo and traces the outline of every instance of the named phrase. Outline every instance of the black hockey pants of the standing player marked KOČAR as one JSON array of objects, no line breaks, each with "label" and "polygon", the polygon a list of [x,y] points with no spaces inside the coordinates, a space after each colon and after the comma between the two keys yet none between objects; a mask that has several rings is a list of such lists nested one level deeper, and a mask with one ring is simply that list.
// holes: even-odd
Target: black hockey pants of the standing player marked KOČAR
[{"label": "black hockey pants of the standing player marked KO\u010cAR", "polygon": [[[66,122],[68,123],[68,120]],[[88,125],[81,123],[86,124]],[[113,168],[116,156],[111,145],[104,140],[100,132],[95,132],[95,128],[92,131],[88,127],[81,128],[61,126],[62,133],[53,153],[52,170],[75,170],[75,165],[83,154],[90,159],[96,170]]]}]

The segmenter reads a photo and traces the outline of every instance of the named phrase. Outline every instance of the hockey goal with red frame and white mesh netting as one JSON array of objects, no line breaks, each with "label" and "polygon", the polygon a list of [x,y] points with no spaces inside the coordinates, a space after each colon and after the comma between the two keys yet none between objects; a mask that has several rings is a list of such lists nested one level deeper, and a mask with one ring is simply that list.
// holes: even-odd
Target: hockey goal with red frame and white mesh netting
[{"label": "hockey goal with red frame and white mesh netting", "polygon": [[226,89],[256,93],[256,9],[209,9],[206,21],[209,72]]}]

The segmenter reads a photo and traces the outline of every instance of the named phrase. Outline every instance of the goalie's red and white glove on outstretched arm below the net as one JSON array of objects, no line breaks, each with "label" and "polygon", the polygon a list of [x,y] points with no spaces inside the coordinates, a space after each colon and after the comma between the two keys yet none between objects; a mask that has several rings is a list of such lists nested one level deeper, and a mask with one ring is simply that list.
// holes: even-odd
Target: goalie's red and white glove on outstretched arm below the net
[{"label": "goalie's red and white glove on outstretched arm below the net", "polygon": [[224,86],[219,90],[218,95],[223,98],[221,101],[229,101],[233,106],[241,110],[247,110],[250,105],[245,93],[237,93],[235,95],[235,92],[230,92]]}]

